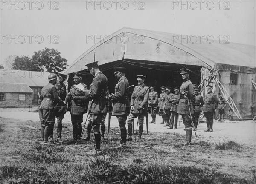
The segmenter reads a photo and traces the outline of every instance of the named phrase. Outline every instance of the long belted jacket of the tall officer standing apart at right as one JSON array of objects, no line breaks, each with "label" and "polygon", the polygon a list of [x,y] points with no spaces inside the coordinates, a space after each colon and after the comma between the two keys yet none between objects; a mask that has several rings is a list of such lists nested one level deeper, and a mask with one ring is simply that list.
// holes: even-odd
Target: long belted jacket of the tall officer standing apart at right
[{"label": "long belted jacket of the tall officer standing apart at right", "polygon": [[180,101],[177,107],[177,113],[189,114],[188,101],[185,99],[185,95],[182,94],[183,92],[187,95],[187,98],[190,103],[190,111],[191,111],[191,114],[193,114],[194,113],[193,104],[195,104],[195,95],[194,95],[194,87],[190,80],[184,81],[180,86]]}]

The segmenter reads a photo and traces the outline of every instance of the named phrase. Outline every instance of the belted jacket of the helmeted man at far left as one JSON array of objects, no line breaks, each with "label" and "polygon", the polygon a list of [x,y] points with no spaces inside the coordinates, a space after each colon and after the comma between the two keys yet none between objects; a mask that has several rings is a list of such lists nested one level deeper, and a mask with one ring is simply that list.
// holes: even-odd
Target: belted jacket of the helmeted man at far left
[{"label": "belted jacket of the helmeted man at far left", "polygon": [[38,99],[39,109],[54,110],[57,103],[64,105],[64,102],[58,96],[56,87],[52,83],[48,83],[41,90],[41,95]]}]

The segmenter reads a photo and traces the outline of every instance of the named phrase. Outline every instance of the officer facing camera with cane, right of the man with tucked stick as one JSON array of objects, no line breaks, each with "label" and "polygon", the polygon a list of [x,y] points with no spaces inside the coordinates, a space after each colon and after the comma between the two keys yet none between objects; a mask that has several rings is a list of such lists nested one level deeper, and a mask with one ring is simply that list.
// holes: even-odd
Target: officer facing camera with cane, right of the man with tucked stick
[{"label": "officer facing camera with cane, right of the man with tucked stick", "polygon": [[128,117],[127,126],[128,126],[128,141],[131,139],[132,131],[132,121],[134,118],[138,117],[139,123],[139,135],[138,141],[141,141],[141,135],[143,132],[143,120],[144,115],[148,113],[147,104],[148,104],[148,94],[149,88],[144,84],[145,76],[137,75],[138,86],[135,86],[134,91],[131,95],[131,112]]}]

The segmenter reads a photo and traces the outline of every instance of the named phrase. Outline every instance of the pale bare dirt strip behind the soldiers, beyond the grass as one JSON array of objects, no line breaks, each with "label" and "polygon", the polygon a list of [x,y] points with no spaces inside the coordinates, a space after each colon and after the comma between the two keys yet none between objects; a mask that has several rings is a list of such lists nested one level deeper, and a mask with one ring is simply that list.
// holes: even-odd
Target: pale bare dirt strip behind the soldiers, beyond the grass
[{"label": "pale bare dirt strip behind the soldiers, beyond the grass", "polygon": [[[0,116],[3,118],[15,118],[20,120],[33,120],[39,122],[38,112],[34,112],[35,109],[0,109]],[[87,114],[84,115],[84,121]],[[135,120],[135,122],[137,119]],[[145,120],[144,120],[145,121]],[[151,121],[149,115],[148,121]],[[184,125],[180,117],[180,126],[176,130],[169,130],[160,124],[161,117],[157,116],[156,124],[148,124],[149,132],[176,132],[184,134]],[[198,137],[195,138],[193,133],[192,141],[209,141],[211,143],[221,143],[223,141],[233,140],[237,143],[256,146],[256,123],[252,123],[252,120],[248,121],[214,121],[213,132],[204,132],[206,128],[205,119],[204,123],[199,124],[198,131],[196,131]],[[64,123],[71,122],[70,113],[67,112],[63,119]],[[108,125],[108,116],[105,124]],[[178,123],[179,124],[179,123]],[[111,127],[117,127],[118,121],[116,117],[111,117]],[[144,124],[144,133],[146,132],[146,124]]]}]

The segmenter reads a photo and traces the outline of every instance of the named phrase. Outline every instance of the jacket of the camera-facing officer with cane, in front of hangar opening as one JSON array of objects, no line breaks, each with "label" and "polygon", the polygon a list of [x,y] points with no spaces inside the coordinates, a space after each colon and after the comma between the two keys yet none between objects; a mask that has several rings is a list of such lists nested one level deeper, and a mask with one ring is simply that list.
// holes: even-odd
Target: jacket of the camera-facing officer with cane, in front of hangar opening
[{"label": "jacket of the camera-facing officer with cane, in front of hangar opening", "polygon": [[[145,86],[135,86],[134,91],[131,95],[131,106],[134,106],[134,110],[131,111],[134,114],[146,114],[148,113],[147,104],[148,104],[148,94],[149,87]],[[142,110],[138,110],[139,106],[142,106]]]}]

